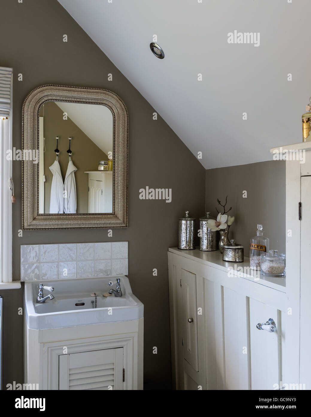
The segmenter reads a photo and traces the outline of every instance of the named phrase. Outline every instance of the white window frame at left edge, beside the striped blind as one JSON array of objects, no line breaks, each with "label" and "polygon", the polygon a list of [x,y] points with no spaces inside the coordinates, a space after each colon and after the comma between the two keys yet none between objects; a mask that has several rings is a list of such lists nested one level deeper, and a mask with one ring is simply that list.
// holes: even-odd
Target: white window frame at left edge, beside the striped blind
[{"label": "white window frame at left edge, beside the striped blind", "polygon": [[10,103],[3,104],[0,95],[0,289],[15,287],[5,285],[12,283],[12,161],[7,160],[7,150],[12,149],[12,72],[10,87]]}]

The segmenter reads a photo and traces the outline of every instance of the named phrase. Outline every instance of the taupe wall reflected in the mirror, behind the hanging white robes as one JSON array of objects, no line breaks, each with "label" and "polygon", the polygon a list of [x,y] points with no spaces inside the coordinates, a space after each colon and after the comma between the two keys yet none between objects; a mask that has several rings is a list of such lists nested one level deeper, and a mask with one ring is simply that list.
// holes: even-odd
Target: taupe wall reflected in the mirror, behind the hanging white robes
[{"label": "taupe wall reflected in the mirror, behind the hanging white robes", "polygon": [[[87,213],[88,209],[88,175],[84,171],[97,171],[99,161],[107,161],[107,155],[68,117],[63,120],[62,110],[53,101],[44,105],[43,131],[45,137],[44,153],[44,212],[50,213],[50,194],[52,185],[52,172],[50,166],[55,161],[56,136],[59,136],[58,149],[60,154],[58,162],[62,172],[62,179],[68,166],[69,148],[68,137],[72,138],[70,149],[72,150],[72,162],[77,168],[75,172],[77,188],[77,213]],[[111,143],[112,148],[112,143]]]}]

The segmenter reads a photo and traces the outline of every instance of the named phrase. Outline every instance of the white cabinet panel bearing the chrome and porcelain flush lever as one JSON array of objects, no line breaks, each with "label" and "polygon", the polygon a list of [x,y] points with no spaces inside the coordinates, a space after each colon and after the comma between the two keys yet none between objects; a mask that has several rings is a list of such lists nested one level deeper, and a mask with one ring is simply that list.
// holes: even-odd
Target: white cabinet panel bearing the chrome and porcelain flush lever
[{"label": "white cabinet panel bearing the chrome and porcelain flush lever", "polygon": [[[281,374],[281,311],[249,299],[251,389],[276,389]],[[274,319],[276,332],[256,328],[258,323]]]}]

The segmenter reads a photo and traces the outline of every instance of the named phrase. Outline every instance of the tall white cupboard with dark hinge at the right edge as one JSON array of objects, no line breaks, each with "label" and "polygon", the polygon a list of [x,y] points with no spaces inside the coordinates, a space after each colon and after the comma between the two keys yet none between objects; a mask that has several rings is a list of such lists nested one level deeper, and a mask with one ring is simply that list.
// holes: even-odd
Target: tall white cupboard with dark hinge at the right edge
[{"label": "tall white cupboard with dark hinge at the right edge", "polygon": [[272,148],[271,153],[286,156],[293,150],[296,155],[300,151],[300,160],[286,160],[286,379],[311,389],[311,142]]}]

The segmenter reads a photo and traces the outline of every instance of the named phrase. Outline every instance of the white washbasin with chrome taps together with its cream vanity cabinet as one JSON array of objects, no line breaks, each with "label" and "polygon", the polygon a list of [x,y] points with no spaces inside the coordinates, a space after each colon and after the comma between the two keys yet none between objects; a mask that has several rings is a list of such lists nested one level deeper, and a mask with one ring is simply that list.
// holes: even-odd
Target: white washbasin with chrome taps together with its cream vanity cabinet
[{"label": "white washbasin with chrome taps together with its cream vanity cabinet", "polygon": [[[44,281],[41,290],[54,298],[46,295],[41,303],[40,284],[25,282],[25,383],[54,390],[143,389],[144,306],[129,279]],[[122,296],[102,296],[115,284]]]}]

